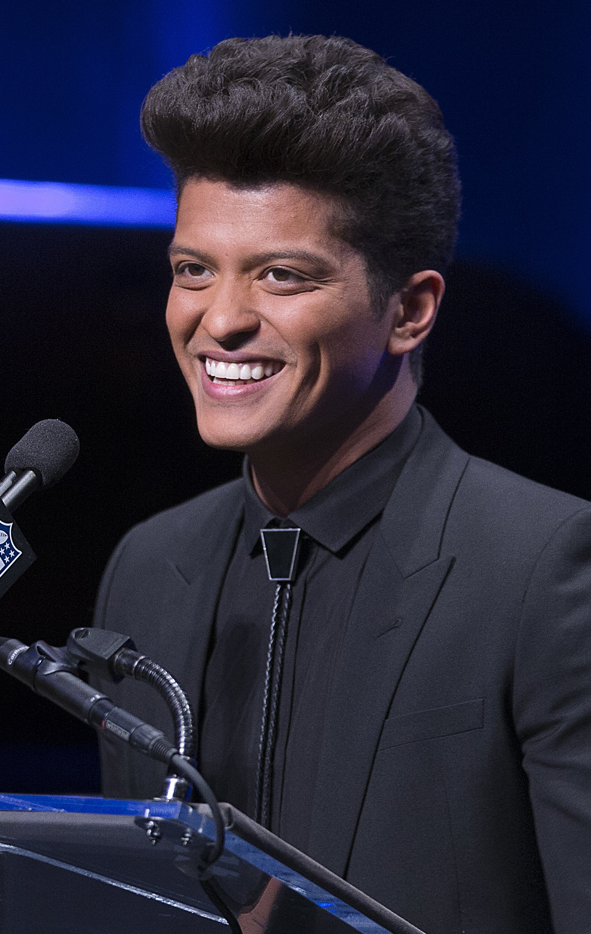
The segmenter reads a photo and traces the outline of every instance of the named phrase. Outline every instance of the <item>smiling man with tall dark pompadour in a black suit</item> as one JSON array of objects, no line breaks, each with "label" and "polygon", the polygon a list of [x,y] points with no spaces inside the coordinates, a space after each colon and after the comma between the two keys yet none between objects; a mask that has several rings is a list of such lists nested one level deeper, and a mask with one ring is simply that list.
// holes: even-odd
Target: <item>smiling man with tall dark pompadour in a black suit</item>
[{"label": "smiling man with tall dark pompadour in a black suit", "polygon": [[[269,36],[193,56],[143,127],[178,189],[176,359],[246,457],[125,536],[96,625],[186,687],[219,799],[428,934],[583,934],[591,507],[415,403],[456,236],[439,108],[347,39]],[[102,758],[106,795],[159,793]]]}]

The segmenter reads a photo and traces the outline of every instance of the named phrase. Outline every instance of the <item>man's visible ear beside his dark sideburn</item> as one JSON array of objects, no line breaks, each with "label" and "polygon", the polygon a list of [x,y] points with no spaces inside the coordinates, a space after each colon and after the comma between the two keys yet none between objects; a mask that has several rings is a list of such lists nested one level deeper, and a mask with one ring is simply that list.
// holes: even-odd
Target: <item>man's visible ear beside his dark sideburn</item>
[{"label": "man's visible ear beside his dark sideburn", "polygon": [[411,276],[403,289],[392,295],[387,307],[392,321],[388,353],[399,357],[425,340],[435,323],[444,290],[443,276],[426,269]]}]

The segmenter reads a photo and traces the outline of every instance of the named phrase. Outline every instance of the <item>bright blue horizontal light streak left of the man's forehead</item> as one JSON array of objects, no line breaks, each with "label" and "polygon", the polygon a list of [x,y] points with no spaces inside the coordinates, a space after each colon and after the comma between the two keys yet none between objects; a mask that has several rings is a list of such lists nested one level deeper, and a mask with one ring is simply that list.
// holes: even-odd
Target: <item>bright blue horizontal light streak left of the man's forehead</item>
[{"label": "bright blue horizontal light streak left of the man's forehead", "polygon": [[174,227],[174,191],[0,178],[0,221]]}]

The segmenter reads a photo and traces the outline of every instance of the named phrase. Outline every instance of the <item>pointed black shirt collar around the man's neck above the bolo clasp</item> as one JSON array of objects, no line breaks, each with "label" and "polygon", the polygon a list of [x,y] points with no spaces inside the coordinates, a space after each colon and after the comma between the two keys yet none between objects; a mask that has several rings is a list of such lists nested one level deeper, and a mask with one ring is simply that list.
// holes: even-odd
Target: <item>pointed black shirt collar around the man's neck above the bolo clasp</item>
[{"label": "pointed black shirt collar around the man's neck above the bolo clasp", "polygon": [[[391,434],[362,458],[335,476],[303,506],[288,516],[288,523],[331,552],[339,551],[384,509],[402,468],[421,431],[423,418],[416,405]],[[245,523],[243,535],[250,553],[260,530],[277,519],[261,502],[250,477],[248,459],[243,463]]]}]

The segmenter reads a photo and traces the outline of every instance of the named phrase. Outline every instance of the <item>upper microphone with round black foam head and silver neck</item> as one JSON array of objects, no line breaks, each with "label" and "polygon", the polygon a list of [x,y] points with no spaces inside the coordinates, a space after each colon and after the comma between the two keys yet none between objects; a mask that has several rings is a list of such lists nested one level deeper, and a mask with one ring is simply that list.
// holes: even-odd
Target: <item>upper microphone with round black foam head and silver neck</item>
[{"label": "upper microphone with round black foam head and silver neck", "polygon": [[15,510],[36,488],[52,487],[77,459],[80,444],[74,429],[59,418],[38,421],[8,451],[0,480],[0,498]]}]

